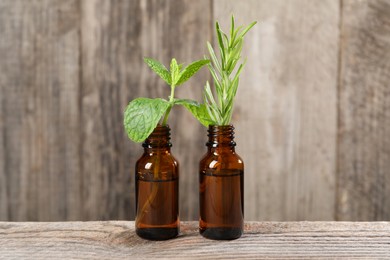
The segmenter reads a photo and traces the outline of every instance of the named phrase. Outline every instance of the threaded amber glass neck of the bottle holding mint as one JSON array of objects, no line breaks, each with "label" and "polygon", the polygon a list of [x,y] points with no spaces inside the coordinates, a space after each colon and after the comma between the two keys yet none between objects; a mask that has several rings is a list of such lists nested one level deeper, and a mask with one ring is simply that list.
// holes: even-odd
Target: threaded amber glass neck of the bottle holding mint
[{"label": "threaded amber glass neck of the bottle holding mint", "polygon": [[171,129],[168,125],[157,125],[148,138],[142,143],[145,151],[150,149],[170,150]]}]

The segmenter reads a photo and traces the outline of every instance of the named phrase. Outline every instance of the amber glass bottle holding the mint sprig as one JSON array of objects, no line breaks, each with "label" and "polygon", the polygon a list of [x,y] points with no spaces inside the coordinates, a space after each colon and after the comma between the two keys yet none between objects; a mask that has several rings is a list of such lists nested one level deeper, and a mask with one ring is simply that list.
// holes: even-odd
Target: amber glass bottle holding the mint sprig
[{"label": "amber glass bottle holding the mint sprig", "polygon": [[136,233],[151,240],[179,234],[179,164],[171,154],[170,128],[158,125],[142,144],[136,169]]}]

